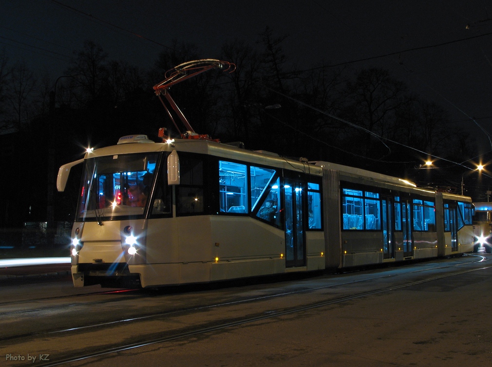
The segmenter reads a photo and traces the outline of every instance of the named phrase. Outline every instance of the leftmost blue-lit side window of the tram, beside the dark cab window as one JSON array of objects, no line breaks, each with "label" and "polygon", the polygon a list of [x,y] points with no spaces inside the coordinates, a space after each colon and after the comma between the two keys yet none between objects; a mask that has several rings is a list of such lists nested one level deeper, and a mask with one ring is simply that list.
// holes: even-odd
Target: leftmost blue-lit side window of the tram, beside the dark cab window
[{"label": "leftmost blue-lit side window of the tram, beside the dark cab window", "polygon": [[246,165],[219,160],[221,213],[247,213]]}]

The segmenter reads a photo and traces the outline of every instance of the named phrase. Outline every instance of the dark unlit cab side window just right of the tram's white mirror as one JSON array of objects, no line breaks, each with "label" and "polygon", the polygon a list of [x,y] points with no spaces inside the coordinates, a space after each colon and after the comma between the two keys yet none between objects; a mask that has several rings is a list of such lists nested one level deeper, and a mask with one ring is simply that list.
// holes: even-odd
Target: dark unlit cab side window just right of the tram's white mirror
[{"label": "dark unlit cab side window just right of the tram's white mirror", "polygon": [[180,184],[176,186],[176,214],[200,214],[203,203],[203,160],[180,156]]}]

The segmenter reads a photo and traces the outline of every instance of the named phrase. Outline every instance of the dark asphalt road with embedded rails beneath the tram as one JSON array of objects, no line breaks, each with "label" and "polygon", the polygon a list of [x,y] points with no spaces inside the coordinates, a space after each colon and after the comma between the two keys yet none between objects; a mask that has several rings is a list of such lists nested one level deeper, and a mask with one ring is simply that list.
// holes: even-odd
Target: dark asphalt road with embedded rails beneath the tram
[{"label": "dark asphalt road with embedded rails beneath the tram", "polygon": [[101,293],[66,281],[3,286],[0,361],[492,366],[492,256],[480,259],[157,292]]}]

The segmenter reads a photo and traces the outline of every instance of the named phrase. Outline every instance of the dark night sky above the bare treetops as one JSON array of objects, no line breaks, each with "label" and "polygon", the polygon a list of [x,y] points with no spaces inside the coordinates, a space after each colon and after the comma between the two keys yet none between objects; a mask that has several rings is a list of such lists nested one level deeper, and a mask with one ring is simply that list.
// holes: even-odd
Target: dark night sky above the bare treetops
[{"label": "dark night sky above the bare treetops", "polygon": [[492,6],[487,5],[484,0],[3,0],[0,47],[10,62],[25,61],[55,80],[85,40],[101,45],[110,59],[147,68],[173,40],[219,58],[224,42],[254,44],[268,26],[276,36],[288,35],[282,46],[298,69],[322,61],[354,71],[387,68],[412,92],[449,110],[453,123],[484,136],[476,123],[492,129]]}]

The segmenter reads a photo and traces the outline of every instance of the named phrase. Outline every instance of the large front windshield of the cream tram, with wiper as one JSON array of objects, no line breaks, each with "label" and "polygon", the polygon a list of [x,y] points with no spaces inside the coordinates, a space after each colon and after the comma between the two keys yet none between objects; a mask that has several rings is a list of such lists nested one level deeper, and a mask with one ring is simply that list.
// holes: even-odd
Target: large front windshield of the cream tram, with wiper
[{"label": "large front windshield of the cream tram, with wiper", "polygon": [[143,217],[158,154],[120,154],[87,159],[77,206],[78,221]]}]

